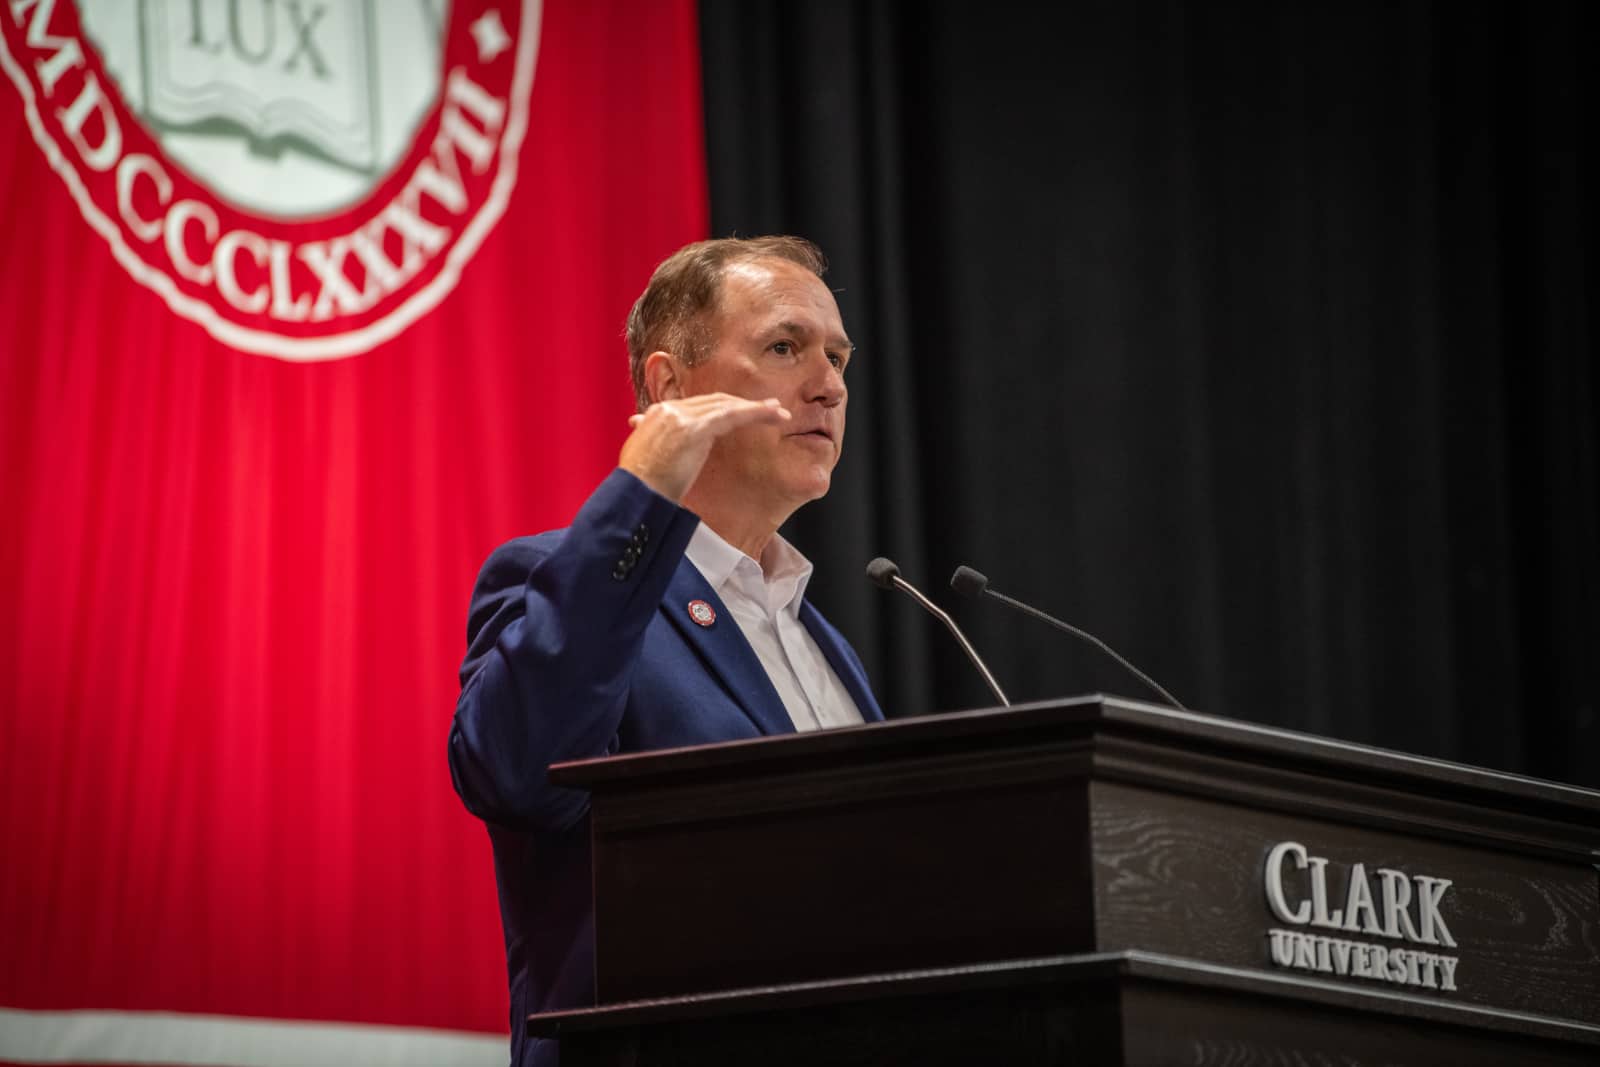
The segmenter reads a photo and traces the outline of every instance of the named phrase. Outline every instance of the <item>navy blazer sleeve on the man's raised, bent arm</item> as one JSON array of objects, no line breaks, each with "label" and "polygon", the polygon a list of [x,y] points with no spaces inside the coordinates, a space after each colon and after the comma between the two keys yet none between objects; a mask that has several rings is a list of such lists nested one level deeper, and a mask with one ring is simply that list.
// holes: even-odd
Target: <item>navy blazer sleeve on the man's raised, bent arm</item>
[{"label": "navy blazer sleeve on the man's raised, bent arm", "polygon": [[562,760],[616,750],[634,664],[699,518],[613,470],[565,531],[490,555],[467,616],[450,777],[472,814],[565,829],[589,795]]}]

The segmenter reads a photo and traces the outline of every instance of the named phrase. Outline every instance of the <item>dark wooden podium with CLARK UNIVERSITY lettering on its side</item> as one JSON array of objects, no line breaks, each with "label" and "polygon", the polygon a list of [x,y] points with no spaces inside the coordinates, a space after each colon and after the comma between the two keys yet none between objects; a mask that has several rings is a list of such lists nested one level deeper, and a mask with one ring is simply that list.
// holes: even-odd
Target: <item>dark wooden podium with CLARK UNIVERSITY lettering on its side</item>
[{"label": "dark wooden podium with CLARK UNIVERSITY lettering on its side", "polygon": [[552,768],[563,1067],[1600,1064],[1600,793],[1088,696]]}]

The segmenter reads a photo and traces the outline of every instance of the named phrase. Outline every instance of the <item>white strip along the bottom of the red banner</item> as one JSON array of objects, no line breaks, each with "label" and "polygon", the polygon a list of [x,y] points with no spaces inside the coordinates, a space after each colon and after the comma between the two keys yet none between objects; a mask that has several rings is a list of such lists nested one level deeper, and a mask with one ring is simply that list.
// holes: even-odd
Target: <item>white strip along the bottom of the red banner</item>
[{"label": "white strip along the bottom of the red banner", "polygon": [[0,1008],[0,1061],[195,1067],[501,1067],[504,1035],[166,1011]]}]

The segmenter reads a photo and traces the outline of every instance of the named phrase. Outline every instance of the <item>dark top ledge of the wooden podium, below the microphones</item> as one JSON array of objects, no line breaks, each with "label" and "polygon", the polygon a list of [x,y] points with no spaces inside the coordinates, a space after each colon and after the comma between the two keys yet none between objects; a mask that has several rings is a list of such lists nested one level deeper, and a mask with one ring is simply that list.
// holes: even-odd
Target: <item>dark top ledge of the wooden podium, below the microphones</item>
[{"label": "dark top ledge of the wooden podium, below the microphones", "polygon": [[[1342,782],[1490,808],[1515,808],[1546,819],[1594,827],[1600,856],[1600,792],[1522,774],[1408,755],[1218,715],[1179,712],[1142,701],[1088,694],[1013,707],[974,709],[864,726],[662,749],[550,766],[557,785],[606,793],[685,779],[715,781],[784,774],[826,765],[882,763],[949,750],[1016,750],[1035,745],[1096,749],[1123,744],[1123,757],[1166,771],[1170,760],[1208,758],[1293,769]],[[1130,747],[1131,745],[1131,747]]]}]

